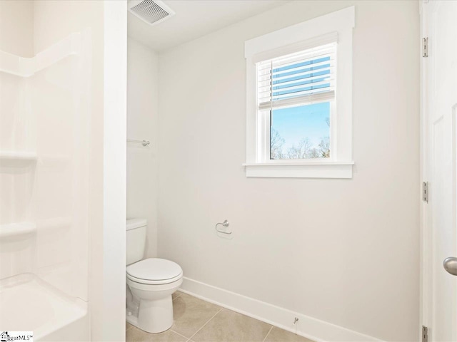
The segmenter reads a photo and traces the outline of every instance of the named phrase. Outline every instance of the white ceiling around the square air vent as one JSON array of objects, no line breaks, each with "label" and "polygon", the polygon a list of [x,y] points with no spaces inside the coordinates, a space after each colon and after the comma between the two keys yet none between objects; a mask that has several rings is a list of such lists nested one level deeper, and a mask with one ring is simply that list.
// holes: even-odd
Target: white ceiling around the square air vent
[{"label": "white ceiling around the square air vent", "polygon": [[168,0],[176,12],[166,21],[151,26],[129,13],[128,33],[156,51],[178,46],[212,31],[281,6],[288,0]]}]

